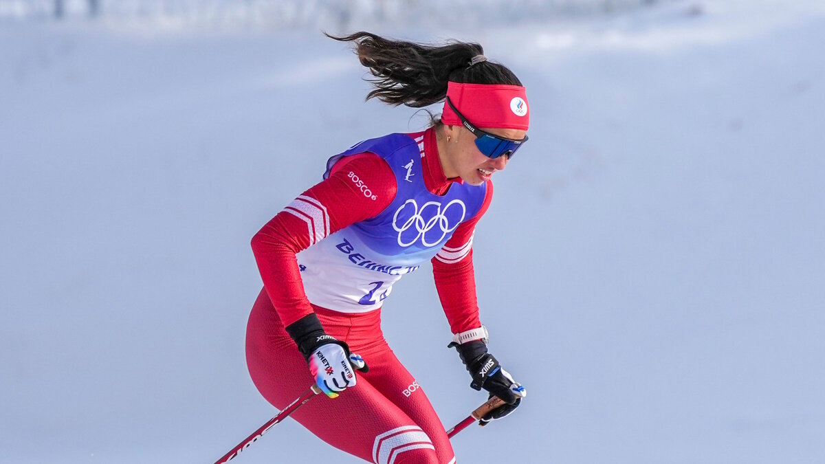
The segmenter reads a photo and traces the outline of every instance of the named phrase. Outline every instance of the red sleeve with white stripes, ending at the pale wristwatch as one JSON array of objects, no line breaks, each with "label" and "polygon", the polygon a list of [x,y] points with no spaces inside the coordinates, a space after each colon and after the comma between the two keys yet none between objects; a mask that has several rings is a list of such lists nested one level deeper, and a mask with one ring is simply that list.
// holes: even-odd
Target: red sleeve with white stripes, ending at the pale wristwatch
[{"label": "red sleeve with white stripes, ending at the pale wristwatch", "polygon": [[492,200],[493,182],[488,181],[487,196],[479,214],[461,223],[441,251],[432,258],[436,290],[453,334],[481,327],[473,271],[473,234],[475,225],[487,212]]}]

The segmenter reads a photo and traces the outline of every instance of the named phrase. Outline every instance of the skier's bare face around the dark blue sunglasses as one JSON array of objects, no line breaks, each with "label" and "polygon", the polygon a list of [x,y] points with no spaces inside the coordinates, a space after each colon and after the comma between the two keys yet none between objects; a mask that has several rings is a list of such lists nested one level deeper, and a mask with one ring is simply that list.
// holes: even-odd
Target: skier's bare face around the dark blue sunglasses
[{"label": "skier's bare face around the dark blue sunglasses", "polygon": [[[481,128],[492,135],[511,140],[521,140],[525,137],[525,130],[497,129],[494,127]],[[451,125],[448,130],[450,142],[447,143],[447,159],[450,161],[451,172],[468,182],[470,185],[481,185],[490,180],[493,173],[503,170],[510,160],[509,156],[500,156],[490,159],[479,151],[475,144],[475,135],[462,125]],[[447,173],[447,169],[445,169]]]}]

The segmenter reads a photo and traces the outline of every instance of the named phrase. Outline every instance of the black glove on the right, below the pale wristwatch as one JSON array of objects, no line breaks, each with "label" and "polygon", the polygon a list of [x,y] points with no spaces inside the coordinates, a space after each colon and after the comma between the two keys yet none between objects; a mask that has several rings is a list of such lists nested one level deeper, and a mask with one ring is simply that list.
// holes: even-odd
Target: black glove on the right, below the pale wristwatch
[{"label": "black glove on the right, below the pale wristwatch", "polygon": [[521,404],[521,398],[527,395],[527,391],[520,383],[513,380],[509,372],[502,369],[492,354],[487,353],[486,343],[474,340],[462,344],[453,342],[448,346],[455,347],[469,375],[473,377],[473,381],[469,384],[471,388],[478,391],[484,389],[490,392],[490,398],[497,396],[507,403],[485,414],[479,424],[485,425],[493,419],[501,419],[516,410]]}]

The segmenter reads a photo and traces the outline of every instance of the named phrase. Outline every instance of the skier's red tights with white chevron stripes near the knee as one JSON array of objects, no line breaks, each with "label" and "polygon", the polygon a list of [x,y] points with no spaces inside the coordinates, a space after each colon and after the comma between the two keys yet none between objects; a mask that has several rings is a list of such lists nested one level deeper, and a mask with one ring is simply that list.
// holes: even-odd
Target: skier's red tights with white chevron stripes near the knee
[{"label": "skier's red tights with white chevron stripes near the knee", "polygon": [[[335,399],[318,395],[290,417],[318,438],[375,464],[454,464],[450,439],[413,376],[389,349],[380,310],[343,314],[315,308],[327,333],[364,357],[370,372]],[[247,366],[258,391],[279,410],[314,383],[266,291],[247,324]]]}]

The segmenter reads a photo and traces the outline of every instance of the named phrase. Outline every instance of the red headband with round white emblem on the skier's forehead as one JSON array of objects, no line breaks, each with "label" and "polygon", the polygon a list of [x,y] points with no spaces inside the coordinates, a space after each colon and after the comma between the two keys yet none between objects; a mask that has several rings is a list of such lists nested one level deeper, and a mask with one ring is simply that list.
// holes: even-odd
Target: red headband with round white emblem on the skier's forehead
[{"label": "red headband with round white emblem on the skier's forehead", "polygon": [[[527,130],[530,125],[526,89],[519,85],[449,82],[447,97],[476,127]],[[441,122],[461,125],[460,117],[446,101]]]}]

